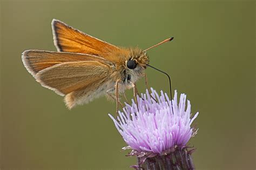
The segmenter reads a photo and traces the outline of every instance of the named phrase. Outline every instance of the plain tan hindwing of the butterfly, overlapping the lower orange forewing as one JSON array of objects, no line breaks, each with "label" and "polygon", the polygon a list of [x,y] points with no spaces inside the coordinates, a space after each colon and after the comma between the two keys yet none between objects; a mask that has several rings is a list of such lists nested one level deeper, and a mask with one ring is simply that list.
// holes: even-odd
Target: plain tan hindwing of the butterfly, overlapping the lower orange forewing
[{"label": "plain tan hindwing of the butterfly, overlapping the lower orange forewing", "polygon": [[66,62],[36,74],[42,86],[58,94],[69,94],[109,78],[109,66],[97,61]]}]

